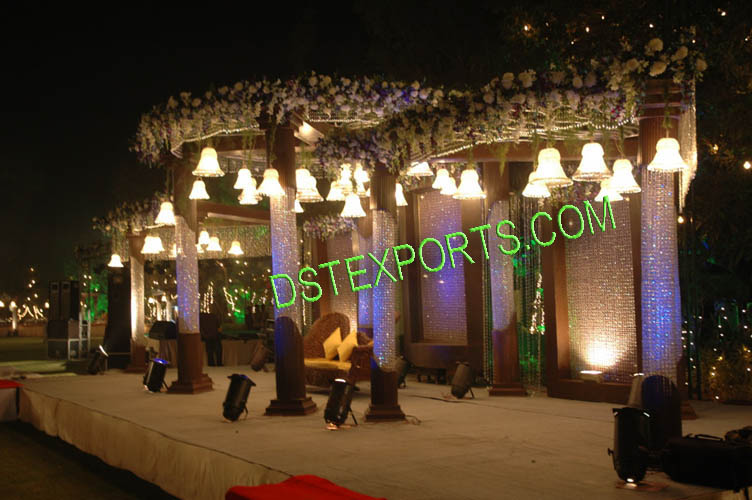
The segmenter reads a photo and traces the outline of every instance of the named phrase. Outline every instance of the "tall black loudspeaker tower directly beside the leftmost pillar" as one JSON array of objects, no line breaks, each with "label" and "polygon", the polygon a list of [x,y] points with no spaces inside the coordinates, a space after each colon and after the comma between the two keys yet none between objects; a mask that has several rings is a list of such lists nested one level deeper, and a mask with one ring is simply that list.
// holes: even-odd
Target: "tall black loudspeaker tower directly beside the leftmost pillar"
[{"label": "tall black loudspeaker tower directly beside the leftmost pillar", "polygon": [[110,268],[107,277],[107,326],[104,349],[120,353],[131,350],[131,275],[128,268]]}]

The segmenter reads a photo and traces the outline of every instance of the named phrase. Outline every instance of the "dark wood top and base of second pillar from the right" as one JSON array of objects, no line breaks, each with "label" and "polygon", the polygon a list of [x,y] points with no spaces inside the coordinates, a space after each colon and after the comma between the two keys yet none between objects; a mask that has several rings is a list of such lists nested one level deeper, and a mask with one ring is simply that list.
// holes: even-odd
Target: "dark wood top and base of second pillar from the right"
[{"label": "dark wood top and base of second pillar from the right", "polygon": [[[511,186],[509,182],[509,166],[501,170],[499,162],[486,162],[483,164],[483,183],[486,188],[486,204],[491,208],[498,201],[509,201]],[[496,231],[495,224],[491,221],[491,229]],[[489,252],[498,251],[490,249]],[[503,258],[511,259],[511,256]],[[513,279],[510,276],[510,280]],[[492,300],[498,300],[494,297]],[[513,312],[509,325],[503,330],[491,332],[493,345],[493,380],[488,389],[489,396],[526,396],[525,388],[520,382],[520,359],[517,345],[517,313]]]}]

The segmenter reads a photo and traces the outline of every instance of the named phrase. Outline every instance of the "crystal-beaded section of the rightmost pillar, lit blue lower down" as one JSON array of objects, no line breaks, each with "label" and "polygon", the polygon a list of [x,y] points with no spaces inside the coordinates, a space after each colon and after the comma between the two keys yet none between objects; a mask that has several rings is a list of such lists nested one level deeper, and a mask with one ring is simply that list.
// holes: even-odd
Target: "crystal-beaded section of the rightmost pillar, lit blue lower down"
[{"label": "crystal-beaded section of the rightmost pillar, lit blue lower down", "polygon": [[673,174],[642,176],[642,366],[676,381],[682,355]]}]

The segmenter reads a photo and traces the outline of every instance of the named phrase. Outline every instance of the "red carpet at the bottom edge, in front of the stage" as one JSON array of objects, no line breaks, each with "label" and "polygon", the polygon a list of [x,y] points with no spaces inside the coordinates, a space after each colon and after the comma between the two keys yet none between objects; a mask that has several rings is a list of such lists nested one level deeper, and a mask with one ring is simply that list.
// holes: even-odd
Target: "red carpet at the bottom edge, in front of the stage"
[{"label": "red carpet at the bottom edge, in front of the stage", "polygon": [[225,500],[386,500],[355,493],[318,476],[293,476],[277,484],[233,486]]}]

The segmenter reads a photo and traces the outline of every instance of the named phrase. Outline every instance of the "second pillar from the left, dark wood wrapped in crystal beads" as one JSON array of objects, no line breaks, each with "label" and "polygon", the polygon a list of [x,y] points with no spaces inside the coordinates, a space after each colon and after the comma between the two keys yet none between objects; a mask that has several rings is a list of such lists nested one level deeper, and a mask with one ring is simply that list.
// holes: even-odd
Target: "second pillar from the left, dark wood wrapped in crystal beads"
[{"label": "second pillar from the left, dark wood wrapped in crystal beads", "polygon": [[[183,151],[186,160],[176,159],[171,165],[175,176],[175,217],[179,219],[177,223],[181,227],[185,225],[183,229],[176,227],[175,236],[179,239],[183,231],[188,231],[193,235],[190,244],[195,245],[198,232],[196,201],[188,199],[188,195],[195,180],[192,174],[193,162],[198,157],[199,151],[192,147],[184,147]],[[180,241],[177,245],[180,247]],[[195,248],[184,256],[179,255],[178,258],[185,259],[181,265],[175,266],[178,274],[178,379],[170,385],[167,392],[196,394],[212,390],[212,380],[203,373],[204,347],[198,331],[198,318],[193,321],[194,325],[187,321],[188,314],[198,315],[199,311],[198,258]],[[190,283],[191,280],[186,279],[188,275],[195,276],[196,283]]]}]

